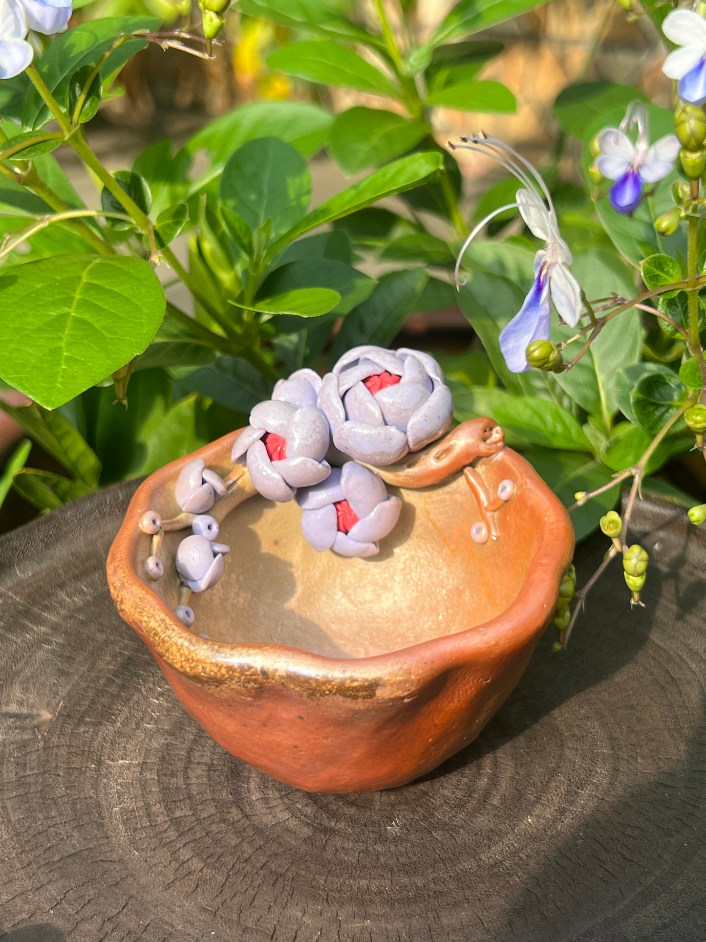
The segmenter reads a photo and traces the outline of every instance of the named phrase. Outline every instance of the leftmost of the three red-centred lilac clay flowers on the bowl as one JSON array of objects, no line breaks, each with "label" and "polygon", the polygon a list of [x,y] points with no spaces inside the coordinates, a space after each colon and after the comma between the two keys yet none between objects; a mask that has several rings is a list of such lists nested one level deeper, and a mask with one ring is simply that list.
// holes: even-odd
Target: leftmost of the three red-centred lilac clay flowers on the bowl
[{"label": "leftmost of the three red-centred lilac clay flowers on the bowl", "polygon": [[249,427],[233,446],[233,461],[247,455],[252,483],[268,500],[284,503],[297,487],[325,480],[330,465],[329,423],[313,404],[321,378],[311,369],[299,369],[275,386],[272,398],[250,413]]}]

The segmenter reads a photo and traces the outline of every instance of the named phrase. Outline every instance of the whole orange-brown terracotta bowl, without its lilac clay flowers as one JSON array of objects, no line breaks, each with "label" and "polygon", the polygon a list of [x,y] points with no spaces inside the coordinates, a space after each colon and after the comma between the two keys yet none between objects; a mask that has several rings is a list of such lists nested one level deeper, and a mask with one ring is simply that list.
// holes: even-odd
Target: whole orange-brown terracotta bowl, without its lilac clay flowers
[{"label": "whole orange-brown terracotta bowl, without its lilac clay flowers", "polygon": [[[192,630],[173,613],[172,560],[188,530],[166,535],[166,575],[152,583],[143,575],[150,538],[137,522],[148,510],[178,512],[174,482],[194,455],[138,488],[108,557],[110,590],[220,745],[297,788],[349,792],[404,785],[477,736],[551,620],[573,549],[564,508],[498,445],[497,431],[500,450],[476,462],[475,477],[491,495],[504,479],[516,491],[495,513],[499,539],[471,541],[480,512],[461,471],[493,450],[482,444],[493,427],[464,423],[385,470],[404,480],[392,489],[404,507],[371,560],[316,553],[300,535],[296,503],[251,496],[244,474],[213,511],[232,550],[218,585],[191,596]],[[226,476],[238,434],[196,455]],[[446,473],[436,487],[409,489]]]}]

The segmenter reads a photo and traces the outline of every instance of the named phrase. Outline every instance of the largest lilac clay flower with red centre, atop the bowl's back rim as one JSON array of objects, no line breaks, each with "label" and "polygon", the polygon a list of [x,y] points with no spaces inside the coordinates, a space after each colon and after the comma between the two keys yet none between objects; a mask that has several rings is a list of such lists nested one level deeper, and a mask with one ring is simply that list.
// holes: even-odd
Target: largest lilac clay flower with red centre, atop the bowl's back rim
[{"label": "largest lilac clay flower with red centre, atop the bowl's back rim", "polygon": [[333,444],[357,461],[392,464],[439,438],[453,403],[440,365],[418,350],[354,347],[324,377],[318,396]]}]

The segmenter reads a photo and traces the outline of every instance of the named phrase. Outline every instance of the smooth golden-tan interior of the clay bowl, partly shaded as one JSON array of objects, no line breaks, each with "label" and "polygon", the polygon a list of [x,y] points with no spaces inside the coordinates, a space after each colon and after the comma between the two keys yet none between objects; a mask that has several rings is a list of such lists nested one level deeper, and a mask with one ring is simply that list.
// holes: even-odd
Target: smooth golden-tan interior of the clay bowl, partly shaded
[{"label": "smooth golden-tan interior of the clay bowl, partly shaded", "polygon": [[[484,477],[494,494],[506,477],[503,462],[487,463]],[[221,524],[218,539],[231,547],[223,577],[191,597],[193,630],[218,642],[364,658],[463,631],[504,611],[537,553],[537,494],[521,486],[498,512],[500,539],[475,544],[470,528],[480,514],[462,475],[422,491],[390,490],[402,498],[403,511],[379,555],[368,560],[313,550],[301,535],[294,501],[255,496],[240,504]],[[168,555],[184,536],[168,535]],[[158,586],[173,604],[175,578]]]}]

